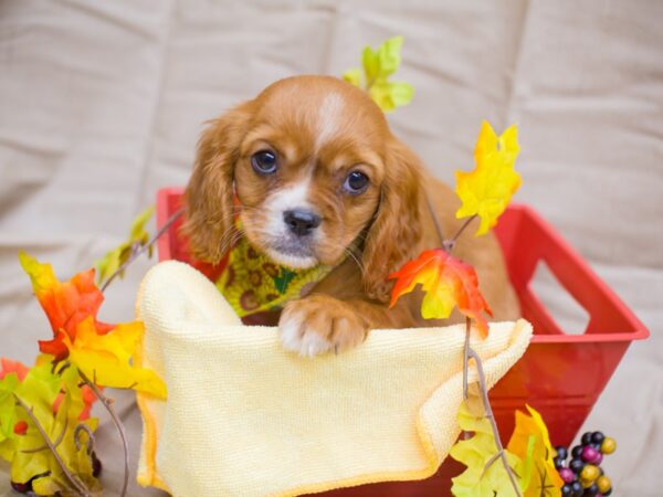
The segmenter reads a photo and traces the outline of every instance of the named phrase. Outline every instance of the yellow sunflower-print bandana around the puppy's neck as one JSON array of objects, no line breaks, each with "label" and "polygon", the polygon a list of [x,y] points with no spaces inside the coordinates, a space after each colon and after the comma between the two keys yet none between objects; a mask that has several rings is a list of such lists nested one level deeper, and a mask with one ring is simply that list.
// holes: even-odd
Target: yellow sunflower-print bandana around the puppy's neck
[{"label": "yellow sunflower-print bandana around the puppy's neck", "polygon": [[330,271],[323,265],[298,271],[281,266],[242,239],[230,252],[215,285],[238,316],[245,317],[278,310],[306,296]]}]

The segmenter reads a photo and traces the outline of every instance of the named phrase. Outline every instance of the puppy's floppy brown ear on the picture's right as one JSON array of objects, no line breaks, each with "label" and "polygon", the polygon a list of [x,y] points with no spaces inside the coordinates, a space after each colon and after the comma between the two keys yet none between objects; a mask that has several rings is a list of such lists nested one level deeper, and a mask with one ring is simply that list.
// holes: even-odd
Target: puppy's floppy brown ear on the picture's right
[{"label": "puppy's floppy brown ear on the picture's right", "polygon": [[417,256],[421,241],[421,173],[418,157],[392,138],[385,158],[380,204],[364,245],[364,289],[388,302],[393,282],[387,276]]}]

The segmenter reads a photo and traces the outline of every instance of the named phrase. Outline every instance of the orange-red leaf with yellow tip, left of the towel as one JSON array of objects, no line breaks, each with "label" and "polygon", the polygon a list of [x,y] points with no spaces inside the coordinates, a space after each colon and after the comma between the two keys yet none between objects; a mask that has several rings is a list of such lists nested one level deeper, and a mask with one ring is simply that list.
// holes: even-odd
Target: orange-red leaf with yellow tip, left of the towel
[{"label": "orange-red leaf with yellow tip, left of the towel", "polygon": [[[76,326],[88,316],[95,317],[95,326],[99,334],[113,329],[96,320],[96,315],[104,302],[104,295],[94,284],[94,269],[78,273],[69,282],[61,283],[53,273],[51,264],[41,264],[25,252],[19,253],[23,271],[32,282],[36,299],[44,309],[54,336],[66,334],[75,337]],[[40,340],[39,348],[44,353],[54,356],[57,361],[66,359],[69,352],[62,340]]]}]

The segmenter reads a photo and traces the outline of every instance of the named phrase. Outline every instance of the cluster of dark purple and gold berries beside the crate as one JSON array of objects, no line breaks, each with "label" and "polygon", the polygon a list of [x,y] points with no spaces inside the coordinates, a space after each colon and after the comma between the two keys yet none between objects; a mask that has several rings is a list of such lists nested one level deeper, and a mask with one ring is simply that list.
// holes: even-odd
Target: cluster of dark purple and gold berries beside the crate
[{"label": "cluster of dark purple and gold berries beside the crate", "polygon": [[612,484],[600,465],[603,455],[612,454],[615,448],[614,438],[601,432],[587,432],[582,435],[580,445],[571,450],[571,458],[567,465],[568,448],[561,445],[555,447],[555,467],[564,480],[562,497],[609,497]]}]

